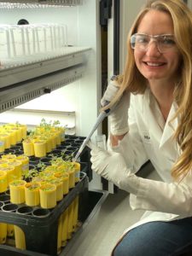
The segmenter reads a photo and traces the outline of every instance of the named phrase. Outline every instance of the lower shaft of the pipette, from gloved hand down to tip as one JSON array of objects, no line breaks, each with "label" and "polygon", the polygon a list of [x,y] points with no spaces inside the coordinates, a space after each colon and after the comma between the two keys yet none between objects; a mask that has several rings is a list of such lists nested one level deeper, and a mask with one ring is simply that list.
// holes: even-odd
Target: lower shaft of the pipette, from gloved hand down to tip
[{"label": "lower shaft of the pipette, from gloved hand down to tip", "polygon": [[82,145],[80,146],[78,153],[74,156],[73,158],[73,162],[75,162],[76,160],[78,160],[79,155],[82,153],[82,151],[84,150],[86,143],[89,142],[90,137],[93,135],[93,133],[96,131],[97,127],[102,123],[102,120],[108,116],[110,109],[107,109],[106,111],[103,111],[102,113],[100,113],[96,119],[96,124],[93,126],[92,130],[90,131],[90,134],[88,135],[88,137],[86,137],[84,139],[84,142],[82,143]]}]

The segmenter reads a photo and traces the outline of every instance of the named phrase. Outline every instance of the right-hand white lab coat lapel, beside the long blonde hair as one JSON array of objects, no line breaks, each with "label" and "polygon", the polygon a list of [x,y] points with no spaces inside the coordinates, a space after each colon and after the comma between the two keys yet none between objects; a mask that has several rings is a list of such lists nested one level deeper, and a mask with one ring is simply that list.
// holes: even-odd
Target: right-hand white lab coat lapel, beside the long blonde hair
[{"label": "right-hand white lab coat lapel, beside the long blonde hair", "polygon": [[163,131],[163,135],[160,140],[160,148],[164,147],[165,143],[168,142],[170,139],[172,139],[172,136],[177,128],[177,119],[173,119],[170,123],[170,120],[172,119],[173,115],[176,112],[176,104],[172,103],[172,108],[170,110],[170,113],[168,115],[168,118],[166,120],[166,125]]}]

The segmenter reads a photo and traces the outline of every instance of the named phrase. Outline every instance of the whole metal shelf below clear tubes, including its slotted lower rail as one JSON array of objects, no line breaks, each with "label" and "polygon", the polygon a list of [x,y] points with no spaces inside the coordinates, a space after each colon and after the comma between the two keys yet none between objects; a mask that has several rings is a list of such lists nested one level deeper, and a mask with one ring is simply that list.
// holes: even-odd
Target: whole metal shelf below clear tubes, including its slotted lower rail
[{"label": "whole metal shelf below clear tubes, including its slotted lower rail", "polygon": [[66,49],[43,61],[13,60],[0,68],[0,113],[82,78],[90,48]]}]

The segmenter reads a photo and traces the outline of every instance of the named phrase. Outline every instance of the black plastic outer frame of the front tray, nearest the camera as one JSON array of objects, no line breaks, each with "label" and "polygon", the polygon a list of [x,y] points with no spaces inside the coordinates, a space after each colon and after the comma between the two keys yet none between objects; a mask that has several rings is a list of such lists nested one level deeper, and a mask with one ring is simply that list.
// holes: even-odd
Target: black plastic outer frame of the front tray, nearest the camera
[{"label": "black plastic outer frame of the front tray, nearest the camera", "polygon": [[[0,223],[15,224],[23,230],[26,237],[26,249],[38,253],[57,255],[57,232],[61,214],[79,195],[79,205],[88,204],[88,178],[84,172],[80,173],[80,181],[75,187],[57,203],[53,209],[32,207],[32,212],[24,215],[18,212],[5,212],[0,208]],[[9,197],[9,195],[7,195]],[[9,203],[9,198],[3,203]],[[11,204],[10,204],[11,205]],[[18,205],[23,207],[24,205]],[[17,209],[17,211],[18,211]],[[34,216],[34,212],[38,215]],[[79,209],[79,219],[84,219],[85,212]]]}]

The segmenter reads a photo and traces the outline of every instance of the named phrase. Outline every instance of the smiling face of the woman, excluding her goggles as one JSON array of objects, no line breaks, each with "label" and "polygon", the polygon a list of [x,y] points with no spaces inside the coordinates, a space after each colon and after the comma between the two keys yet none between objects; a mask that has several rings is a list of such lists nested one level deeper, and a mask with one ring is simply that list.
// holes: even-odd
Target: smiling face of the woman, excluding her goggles
[{"label": "smiling face of the woman, excluding her goggles", "polygon": [[[174,34],[172,18],[159,10],[149,10],[137,28],[137,33],[148,35]],[[134,56],[138,70],[148,79],[149,84],[156,80],[167,83],[174,82],[177,69],[181,61],[177,48],[160,53],[157,43],[152,40],[146,51],[134,49]],[[172,83],[173,84],[173,83]]]}]

